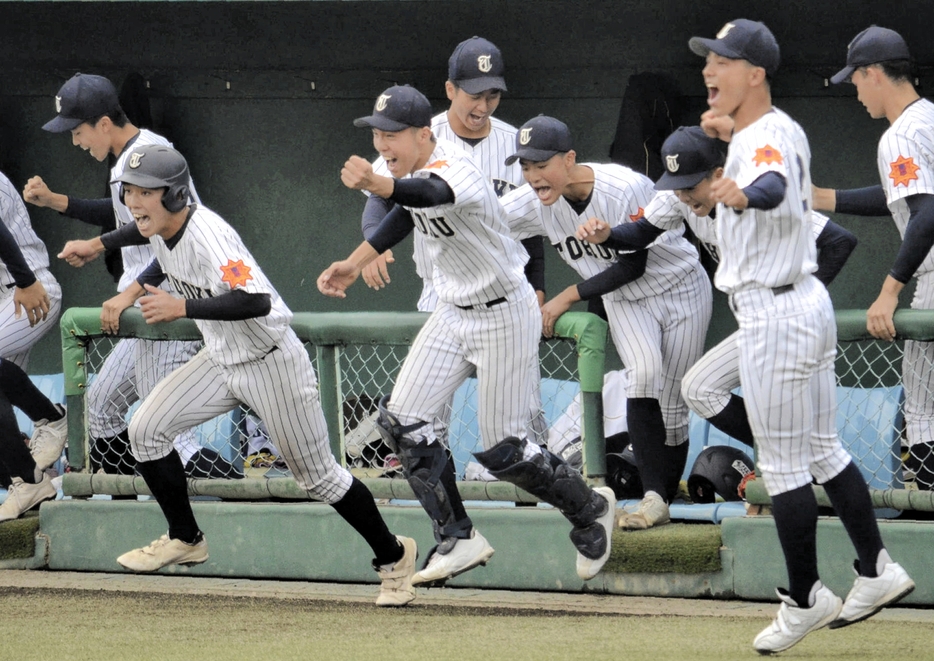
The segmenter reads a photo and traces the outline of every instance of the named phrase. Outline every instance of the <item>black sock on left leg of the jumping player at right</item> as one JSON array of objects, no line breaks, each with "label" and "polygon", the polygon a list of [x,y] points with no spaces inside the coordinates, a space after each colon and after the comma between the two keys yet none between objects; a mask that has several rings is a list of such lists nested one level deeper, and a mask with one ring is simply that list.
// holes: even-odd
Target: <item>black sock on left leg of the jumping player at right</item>
[{"label": "black sock on left leg of the jumping player at right", "polygon": [[817,573],[817,499],[810,484],[772,496],[772,515],[785,554],[788,594],[809,608]]}]

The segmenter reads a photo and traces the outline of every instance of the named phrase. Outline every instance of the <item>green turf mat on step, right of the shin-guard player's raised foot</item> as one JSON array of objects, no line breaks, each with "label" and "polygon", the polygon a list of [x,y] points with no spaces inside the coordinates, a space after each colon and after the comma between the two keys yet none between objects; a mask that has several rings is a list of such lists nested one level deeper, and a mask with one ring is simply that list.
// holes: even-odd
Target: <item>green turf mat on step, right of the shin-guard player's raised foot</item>
[{"label": "green turf mat on step, right of the shin-guard player's raised foot", "polygon": [[720,571],[720,526],[670,523],[616,530],[604,571],[618,574],[704,574]]}]

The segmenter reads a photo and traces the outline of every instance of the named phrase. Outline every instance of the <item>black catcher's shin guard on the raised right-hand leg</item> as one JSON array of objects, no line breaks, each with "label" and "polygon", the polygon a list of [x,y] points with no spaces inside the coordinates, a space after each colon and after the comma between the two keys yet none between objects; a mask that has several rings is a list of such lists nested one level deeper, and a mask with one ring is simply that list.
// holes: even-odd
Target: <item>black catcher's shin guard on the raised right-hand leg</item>
[{"label": "black catcher's shin guard on the raised right-hand leg", "polygon": [[527,440],[507,438],[489,450],[477,452],[477,458],[493,476],[511,482],[540,500],[557,507],[571,522],[571,542],[581,555],[595,560],[607,548],[606,530],[597,519],[606,514],[609,504],[587,486],[580,473],[563,459],[542,449],[531,459],[523,458]]}]

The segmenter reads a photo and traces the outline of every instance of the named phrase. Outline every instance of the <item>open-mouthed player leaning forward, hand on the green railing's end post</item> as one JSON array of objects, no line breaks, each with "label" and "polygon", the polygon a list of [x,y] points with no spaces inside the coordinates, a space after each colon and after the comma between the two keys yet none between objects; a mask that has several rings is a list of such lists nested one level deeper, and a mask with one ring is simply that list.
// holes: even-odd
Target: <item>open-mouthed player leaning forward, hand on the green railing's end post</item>
[{"label": "open-mouthed player leaning forward, hand on the green railing's end post", "polygon": [[644,497],[620,519],[625,528],[645,529],[669,521],[668,503],[677,492],[688,453],[688,409],[681,377],[704,349],[710,321],[710,285],[697,250],[678,228],[660,237],[645,256],[637,279],[602,286],[626,259],[615,250],[581,242],[586,219],[607,225],[631,223],[652,199],[647,177],[616,164],[578,163],[567,126],[540,115],[519,129],[516,152],[528,186],[507,194],[503,206],[516,236],[544,234],[585,282],[568,287],[542,309],[550,335],[555,320],[576,301],[602,295],[610,335],[629,381],[629,435]]}]

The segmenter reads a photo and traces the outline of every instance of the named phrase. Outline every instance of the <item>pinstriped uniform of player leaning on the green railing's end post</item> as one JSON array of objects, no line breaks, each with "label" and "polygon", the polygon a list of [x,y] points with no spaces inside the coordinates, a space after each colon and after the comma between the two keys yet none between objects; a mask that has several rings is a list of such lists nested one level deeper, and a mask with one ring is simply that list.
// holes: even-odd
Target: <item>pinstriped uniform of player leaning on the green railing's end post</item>
[{"label": "pinstriped uniform of player leaning on the green railing's end post", "polygon": [[[582,213],[561,198],[542,205],[524,186],[503,198],[510,226],[519,238],[543,234],[582,278],[615,262],[616,251],[579,241],[578,226],[600,218],[611,226],[638,220],[654,195],[647,177],[613,164],[583,164],[594,172],[594,187]],[[697,250],[683,227],[662,234],[649,248],[645,274],[603,296],[616,350],[626,367],[630,398],[658,399],[666,443],[687,440],[688,410],[681,377],[704,349],[712,297]]]}]

